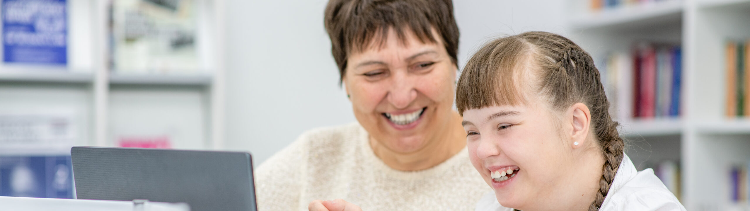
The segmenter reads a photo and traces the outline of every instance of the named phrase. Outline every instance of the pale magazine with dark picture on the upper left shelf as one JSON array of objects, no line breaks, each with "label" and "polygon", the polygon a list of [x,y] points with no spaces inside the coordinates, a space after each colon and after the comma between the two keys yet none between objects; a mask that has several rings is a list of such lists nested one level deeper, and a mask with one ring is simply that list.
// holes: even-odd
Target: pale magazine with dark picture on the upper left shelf
[{"label": "pale magazine with dark picture on the upper left shelf", "polygon": [[193,0],[121,0],[111,5],[117,74],[199,74],[199,16]]}]

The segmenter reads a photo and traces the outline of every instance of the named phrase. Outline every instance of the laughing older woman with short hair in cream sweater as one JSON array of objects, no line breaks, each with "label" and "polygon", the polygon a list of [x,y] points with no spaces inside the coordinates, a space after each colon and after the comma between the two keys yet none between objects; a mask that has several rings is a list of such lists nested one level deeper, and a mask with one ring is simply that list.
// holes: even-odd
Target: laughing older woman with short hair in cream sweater
[{"label": "laughing older woman with short hair in cream sweater", "polygon": [[308,131],[260,165],[259,209],[335,198],[365,210],[472,209],[490,189],[452,109],[452,2],[331,0],[325,16],[357,122]]}]

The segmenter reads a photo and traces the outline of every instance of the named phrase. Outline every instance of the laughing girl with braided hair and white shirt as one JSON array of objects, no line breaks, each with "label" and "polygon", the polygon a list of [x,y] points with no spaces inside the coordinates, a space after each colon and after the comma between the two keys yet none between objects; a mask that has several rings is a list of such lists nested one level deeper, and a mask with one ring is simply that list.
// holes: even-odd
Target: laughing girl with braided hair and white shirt
[{"label": "laughing girl with braided hair and white shirt", "polygon": [[685,210],[653,170],[635,170],[591,56],[568,38],[485,44],[456,106],[469,159],[493,188],[477,210]]}]

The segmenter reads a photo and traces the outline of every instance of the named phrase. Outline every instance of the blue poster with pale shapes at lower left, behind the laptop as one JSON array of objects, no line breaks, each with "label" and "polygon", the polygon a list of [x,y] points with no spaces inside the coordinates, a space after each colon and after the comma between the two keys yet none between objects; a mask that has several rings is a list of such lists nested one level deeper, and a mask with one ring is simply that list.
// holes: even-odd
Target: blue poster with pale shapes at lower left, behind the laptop
[{"label": "blue poster with pale shapes at lower left, behind the laptop", "polygon": [[0,196],[73,198],[71,156],[0,156]]}]

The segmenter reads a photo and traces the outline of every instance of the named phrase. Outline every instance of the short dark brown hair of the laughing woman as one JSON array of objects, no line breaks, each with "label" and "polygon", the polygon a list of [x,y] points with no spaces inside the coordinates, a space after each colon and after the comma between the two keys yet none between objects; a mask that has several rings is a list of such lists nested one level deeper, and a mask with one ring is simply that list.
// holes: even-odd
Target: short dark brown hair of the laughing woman
[{"label": "short dark brown hair of the laughing woman", "polygon": [[458,65],[458,26],[451,0],[330,0],[326,6],[326,31],[344,80],[347,59],[353,51],[383,46],[389,30],[406,41],[404,30],[411,30],[422,43],[437,43],[434,29],[443,39],[451,62]]}]

